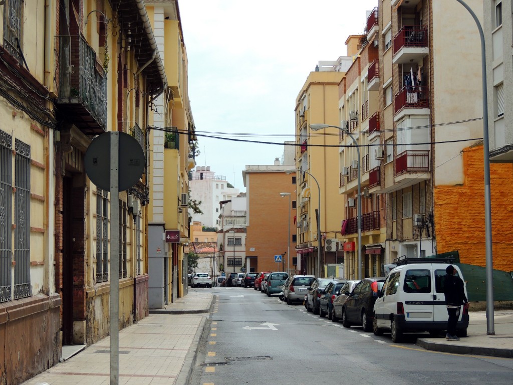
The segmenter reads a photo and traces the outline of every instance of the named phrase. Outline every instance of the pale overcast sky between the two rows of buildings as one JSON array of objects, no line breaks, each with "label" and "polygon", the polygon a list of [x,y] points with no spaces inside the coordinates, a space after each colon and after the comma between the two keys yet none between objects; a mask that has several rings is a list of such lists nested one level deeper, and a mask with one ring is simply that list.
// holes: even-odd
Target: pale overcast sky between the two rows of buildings
[{"label": "pale overcast sky between the two rows of buildings", "polygon": [[[294,140],[294,106],[310,71],[346,55],[378,0],[179,0],[189,98],[201,154],[245,191],[246,165],[271,165]],[[207,135],[207,138],[203,135]],[[224,138],[224,139],[218,139]],[[228,141],[242,139],[278,143]]]}]

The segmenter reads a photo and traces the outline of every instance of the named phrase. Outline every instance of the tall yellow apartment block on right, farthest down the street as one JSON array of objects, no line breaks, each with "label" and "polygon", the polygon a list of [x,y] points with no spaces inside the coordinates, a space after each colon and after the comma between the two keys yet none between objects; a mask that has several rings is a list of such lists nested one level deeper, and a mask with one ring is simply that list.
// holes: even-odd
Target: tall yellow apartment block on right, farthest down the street
[{"label": "tall yellow apartment block on right, farthest down the street", "polygon": [[295,167],[300,170],[296,181],[297,253],[298,269],[302,274],[319,276],[324,274],[325,261],[336,262],[334,253],[330,256],[322,250],[318,230],[322,238],[335,239],[337,233],[340,235],[338,229],[343,219],[343,198],[337,188],[338,152],[328,147],[338,147],[339,132],[328,130],[317,133],[309,125],[339,124],[339,83],[351,62],[351,57],[340,57],[335,62],[320,62],[317,70],[308,75],[295,100]]}]

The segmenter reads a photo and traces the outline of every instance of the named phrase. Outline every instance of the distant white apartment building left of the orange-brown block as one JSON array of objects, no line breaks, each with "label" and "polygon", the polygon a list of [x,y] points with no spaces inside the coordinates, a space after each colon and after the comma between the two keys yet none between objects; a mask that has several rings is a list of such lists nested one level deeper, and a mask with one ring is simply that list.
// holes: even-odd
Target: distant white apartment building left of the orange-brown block
[{"label": "distant white apartment building left of the orange-brown block", "polygon": [[220,202],[227,201],[239,195],[239,189],[228,187],[226,177],[215,175],[210,166],[197,166],[192,171],[190,197],[201,201],[203,214],[192,214],[192,221],[201,222],[206,227],[220,229]]}]

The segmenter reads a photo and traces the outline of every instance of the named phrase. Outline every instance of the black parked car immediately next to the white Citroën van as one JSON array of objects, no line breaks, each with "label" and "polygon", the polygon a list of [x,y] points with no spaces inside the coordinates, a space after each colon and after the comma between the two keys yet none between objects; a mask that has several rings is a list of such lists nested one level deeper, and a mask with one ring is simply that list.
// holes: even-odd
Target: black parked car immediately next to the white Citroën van
[{"label": "black parked car immediately next to the white Citro\u00ebn van", "polygon": [[383,287],[385,277],[364,278],[354,286],[342,305],[342,325],[350,328],[351,325],[362,325],[365,332],[372,330],[374,318],[374,302],[378,299],[378,292]]}]

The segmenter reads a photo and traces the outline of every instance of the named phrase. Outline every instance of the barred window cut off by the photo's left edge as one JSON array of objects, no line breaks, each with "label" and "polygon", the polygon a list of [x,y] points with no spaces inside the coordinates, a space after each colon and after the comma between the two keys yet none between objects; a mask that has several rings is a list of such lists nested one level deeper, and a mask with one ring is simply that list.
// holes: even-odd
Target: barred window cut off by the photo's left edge
[{"label": "barred window cut off by the photo's left edge", "polygon": [[0,302],[11,300],[12,137],[0,130]]}]

